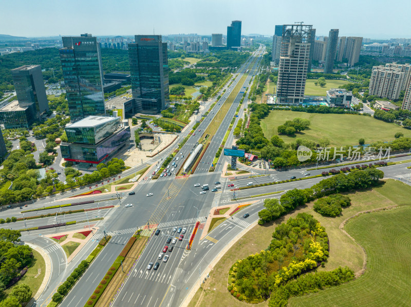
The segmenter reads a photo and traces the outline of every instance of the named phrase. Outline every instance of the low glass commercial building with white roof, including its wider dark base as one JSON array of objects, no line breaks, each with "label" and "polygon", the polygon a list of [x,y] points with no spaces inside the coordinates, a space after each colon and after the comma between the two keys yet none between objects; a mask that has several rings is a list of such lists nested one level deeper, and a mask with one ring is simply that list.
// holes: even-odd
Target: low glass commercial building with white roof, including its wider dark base
[{"label": "low glass commercial building with white roof, including its wider dark base", "polygon": [[129,145],[130,127],[120,117],[88,116],[65,128],[67,142],[60,144],[65,161],[81,169],[108,161]]}]

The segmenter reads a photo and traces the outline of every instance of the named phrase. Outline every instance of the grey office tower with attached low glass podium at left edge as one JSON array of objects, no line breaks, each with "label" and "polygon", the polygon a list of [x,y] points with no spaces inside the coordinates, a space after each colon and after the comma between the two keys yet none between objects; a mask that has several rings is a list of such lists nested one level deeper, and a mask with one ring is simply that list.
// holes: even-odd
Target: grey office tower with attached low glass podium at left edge
[{"label": "grey office tower with attached low glass podium at left edge", "polygon": [[17,101],[0,109],[0,121],[6,129],[29,128],[40,115],[48,112],[42,68],[25,65],[11,70]]}]

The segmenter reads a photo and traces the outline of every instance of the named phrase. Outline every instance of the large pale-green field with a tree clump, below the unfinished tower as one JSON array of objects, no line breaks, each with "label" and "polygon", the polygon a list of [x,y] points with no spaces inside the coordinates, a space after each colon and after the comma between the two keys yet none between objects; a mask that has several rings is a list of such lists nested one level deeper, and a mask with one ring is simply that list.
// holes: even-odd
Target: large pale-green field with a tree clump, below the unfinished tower
[{"label": "large pale-green field with a tree clump, below the unfinished tower", "polygon": [[345,146],[358,145],[360,138],[365,139],[365,144],[379,140],[393,140],[397,132],[402,132],[405,137],[411,137],[411,131],[369,116],[278,110],[271,111],[266,118],[261,120],[264,135],[270,139],[277,134],[279,125],[283,125],[286,120],[292,120],[295,117],[309,119],[311,121],[310,129],[296,133],[294,137],[280,135],[279,137],[286,143],[294,141],[296,137],[315,142],[326,137],[331,141],[331,146]]}]

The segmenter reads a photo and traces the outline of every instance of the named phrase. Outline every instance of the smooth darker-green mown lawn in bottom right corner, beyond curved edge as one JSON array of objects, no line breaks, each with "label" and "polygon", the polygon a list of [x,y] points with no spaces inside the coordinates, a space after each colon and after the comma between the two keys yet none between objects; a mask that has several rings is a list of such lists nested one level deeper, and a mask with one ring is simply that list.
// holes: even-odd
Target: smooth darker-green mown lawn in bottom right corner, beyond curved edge
[{"label": "smooth darker-green mown lawn in bottom right corner, beyond curved edge", "polygon": [[358,279],[290,300],[291,306],[409,306],[411,206],[360,215],[345,230],[367,253]]}]

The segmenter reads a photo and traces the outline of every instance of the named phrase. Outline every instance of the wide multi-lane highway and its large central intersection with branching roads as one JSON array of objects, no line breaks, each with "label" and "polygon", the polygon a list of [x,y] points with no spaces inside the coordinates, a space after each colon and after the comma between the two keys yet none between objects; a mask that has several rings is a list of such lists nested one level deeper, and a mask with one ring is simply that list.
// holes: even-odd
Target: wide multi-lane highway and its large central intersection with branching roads
[{"label": "wide multi-lane highway and its large central intersection with branching roads", "polygon": [[[233,83],[231,86],[226,86],[226,93],[217,101],[213,110],[204,118],[199,127],[196,129],[196,135],[192,135],[184,146],[180,149],[177,156],[180,158],[177,164],[180,166],[184,159],[189,155],[193,148],[198,144],[201,134],[207,127],[217,120],[215,116],[218,110],[225,103],[229,94],[234,90],[235,86],[241,80],[241,77],[246,74],[242,85],[240,85],[240,91],[249,87],[249,82],[256,75],[256,71],[259,69],[259,61],[261,54],[264,53],[264,47],[261,46],[258,51],[256,51],[250,59],[238,69],[238,73],[233,78]],[[255,61],[254,61],[255,59]],[[251,64],[253,64],[251,66]],[[230,81],[229,81],[230,83]],[[238,90],[238,88],[237,88]],[[261,196],[252,199],[259,200],[252,206],[247,208],[247,213],[250,216],[247,219],[242,218],[242,215],[234,216],[217,228],[215,228],[206,238],[201,242],[199,240],[201,231],[196,235],[193,243],[193,248],[191,251],[185,249],[187,245],[187,240],[190,238],[193,232],[194,225],[196,221],[204,222],[208,217],[211,208],[216,206],[221,206],[225,203],[233,203],[233,191],[228,188],[229,183],[234,184],[234,188],[244,187],[248,182],[253,182],[254,184],[281,181],[289,179],[291,176],[296,176],[297,178],[305,177],[304,174],[307,172],[306,169],[294,169],[286,172],[268,171],[268,176],[261,177],[240,177],[237,180],[231,180],[229,178],[221,177],[222,163],[229,160],[229,157],[221,157],[221,164],[217,165],[214,172],[208,172],[211,162],[221,144],[223,137],[225,136],[232,118],[235,115],[235,111],[239,105],[239,101],[242,97],[242,93],[235,94],[235,99],[230,106],[226,114],[223,114],[223,118],[219,119],[219,128],[216,131],[214,137],[210,142],[206,153],[203,155],[200,165],[198,166],[196,172],[189,177],[176,178],[174,176],[167,176],[159,178],[156,180],[143,180],[135,188],[135,195],[128,195],[123,193],[121,204],[120,200],[105,200],[99,202],[97,205],[85,204],[82,206],[76,206],[76,209],[85,208],[96,208],[97,206],[110,206],[115,207],[107,210],[91,211],[87,213],[86,218],[89,219],[95,217],[104,217],[104,220],[96,223],[94,227],[99,228],[99,232],[94,234],[91,240],[85,245],[85,247],[80,252],[74,260],[67,264],[67,259],[65,253],[55,242],[41,236],[44,234],[49,234],[56,232],[56,230],[43,230],[43,231],[33,231],[30,233],[24,233],[23,240],[32,242],[39,245],[49,252],[50,259],[52,261],[52,274],[50,278],[50,283],[46,291],[39,299],[46,299],[50,294],[53,293],[55,286],[60,282],[64,281],[71,271],[77,267],[79,261],[85,259],[86,256],[96,247],[98,240],[103,236],[101,230],[106,230],[108,234],[112,236],[112,239],[107,244],[107,247],[98,255],[95,261],[92,262],[90,267],[87,269],[82,278],[76,283],[73,289],[70,291],[67,297],[61,303],[62,306],[77,307],[83,306],[91,293],[96,289],[97,283],[103,279],[105,272],[109,269],[113,261],[115,261],[118,254],[124,247],[128,238],[141,226],[150,225],[152,229],[160,229],[160,234],[158,236],[153,236],[148,242],[147,247],[143,251],[139,260],[136,262],[133,271],[127,277],[126,282],[123,284],[121,290],[118,292],[116,299],[113,303],[114,306],[178,306],[186,298],[188,293],[193,289],[193,287],[198,287],[199,277],[204,274],[209,273],[209,264],[212,260],[221,252],[221,250],[235,238],[242,230],[250,226],[251,223],[258,219],[258,211],[263,208],[263,199],[269,198],[270,196]],[[215,100],[208,101],[204,104],[205,110],[208,110]],[[239,117],[241,116],[244,108],[247,107],[247,96],[244,103],[241,106]],[[211,119],[211,120],[210,120]],[[237,122],[238,118],[236,119]],[[234,127],[236,125],[234,123]],[[189,127],[186,128],[180,135],[179,139],[175,145],[170,146],[170,148],[163,151],[151,160],[143,163],[142,165],[133,166],[132,169],[125,171],[122,176],[127,176],[133,172],[137,172],[148,165],[161,163],[162,160],[167,157],[191,130],[195,122],[191,122]],[[200,130],[200,132],[198,132]],[[232,133],[226,142],[226,147],[230,147],[233,142]],[[177,157],[176,156],[176,157]],[[399,157],[394,160],[405,160],[407,157]],[[366,162],[366,161],[365,161]],[[409,171],[407,172],[405,165],[395,165],[390,167],[382,168],[387,177],[398,177],[405,180],[406,176],[409,176]],[[330,166],[330,168],[337,168],[335,166]],[[311,175],[321,174],[324,170],[309,171]],[[264,170],[256,170],[256,173],[264,173]],[[254,173],[254,171],[253,171]],[[401,174],[401,175],[400,175]],[[402,178],[402,177],[403,178]],[[322,180],[322,177],[305,179],[300,181],[293,181],[287,183],[281,183],[278,185],[271,185],[265,187],[256,187],[252,189],[237,191],[237,197],[249,197],[258,194],[265,194],[276,191],[286,191],[293,188],[307,188],[314,185],[316,182]],[[207,191],[206,194],[200,194],[201,189],[195,188],[195,183],[209,184],[210,188],[214,186],[214,182],[220,181],[221,190],[218,192]],[[63,196],[55,196],[46,198],[44,200],[30,204],[29,208],[42,208],[43,206],[50,205],[50,203],[66,203],[61,201],[61,199],[78,194],[79,190],[66,193]],[[146,197],[147,193],[153,193],[153,196]],[[282,193],[271,195],[271,197],[281,197]],[[94,200],[107,199],[107,196],[99,195],[94,197]],[[239,200],[238,202],[246,201]],[[133,207],[125,208],[125,204],[132,203]],[[20,209],[13,208],[5,212],[0,212],[1,217],[22,217]],[[37,214],[44,213],[54,213],[59,211],[59,209],[53,209],[48,211],[41,211]],[[64,208],[62,208],[64,211]],[[36,213],[27,213],[26,216],[35,215]],[[69,220],[80,220],[86,219],[85,213],[76,213],[66,215],[65,217],[57,216],[57,220],[60,221],[66,219]],[[64,221],[64,220],[63,220]],[[50,222],[55,222],[55,217],[50,216],[41,219],[26,221],[27,227],[35,227],[40,224],[47,224]],[[13,223],[13,228],[24,228],[20,227],[24,222]],[[10,224],[11,225],[11,224]],[[16,225],[16,226],[14,226]],[[81,227],[87,227],[87,224],[82,224]],[[176,240],[175,243],[166,243],[168,238],[178,238],[180,234],[173,231],[174,227],[186,228],[186,232],[183,234],[183,240]],[[78,229],[79,226],[67,226],[64,229]],[[63,231],[63,230],[62,230]],[[168,255],[169,259],[167,262],[163,262],[164,255],[162,259],[158,259],[159,254],[162,252],[165,246],[174,247],[173,251],[166,251],[164,255]],[[158,270],[147,270],[148,263],[159,262]],[[40,302],[41,304],[41,302]]]}]

